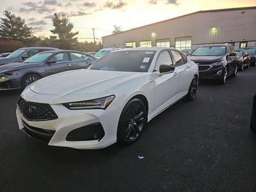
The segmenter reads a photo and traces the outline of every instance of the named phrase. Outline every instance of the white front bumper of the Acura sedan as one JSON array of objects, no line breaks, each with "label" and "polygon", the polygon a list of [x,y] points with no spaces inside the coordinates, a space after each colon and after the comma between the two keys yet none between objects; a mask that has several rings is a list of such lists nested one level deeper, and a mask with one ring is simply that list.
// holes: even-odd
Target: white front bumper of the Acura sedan
[{"label": "white front bumper of the Acura sedan", "polygon": [[[48,145],[58,147],[70,147],[79,149],[96,149],[104,148],[116,142],[116,132],[118,127],[119,116],[122,109],[115,103],[111,103],[106,110],[87,109],[87,110],[69,110],[62,104],[51,105],[58,119],[49,121],[33,122],[28,121],[17,108],[17,120],[19,129],[27,131],[28,127],[43,129],[44,131],[53,132],[47,141]],[[104,136],[100,140],[90,141],[67,141],[68,133],[86,125],[100,124],[104,129]],[[36,138],[36,136],[32,136]],[[38,139],[38,138],[37,138]]]}]

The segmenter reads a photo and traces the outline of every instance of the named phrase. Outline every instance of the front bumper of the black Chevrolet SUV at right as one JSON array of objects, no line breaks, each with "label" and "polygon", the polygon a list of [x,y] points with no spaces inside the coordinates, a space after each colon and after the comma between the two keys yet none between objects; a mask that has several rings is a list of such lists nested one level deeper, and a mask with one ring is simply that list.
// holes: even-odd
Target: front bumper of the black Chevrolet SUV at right
[{"label": "front bumper of the black Chevrolet SUV at right", "polygon": [[211,67],[205,71],[199,71],[200,79],[221,79],[223,66]]}]

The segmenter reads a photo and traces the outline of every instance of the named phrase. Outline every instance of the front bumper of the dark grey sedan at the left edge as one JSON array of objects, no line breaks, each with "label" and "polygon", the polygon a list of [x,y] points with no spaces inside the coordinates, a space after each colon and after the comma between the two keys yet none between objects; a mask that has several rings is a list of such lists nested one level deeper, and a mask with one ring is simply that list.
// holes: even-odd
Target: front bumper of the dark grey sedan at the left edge
[{"label": "front bumper of the dark grey sedan at the left edge", "polygon": [[0,77],[0,91],[17,90],[19,88],[21,88],[19,76]]}]

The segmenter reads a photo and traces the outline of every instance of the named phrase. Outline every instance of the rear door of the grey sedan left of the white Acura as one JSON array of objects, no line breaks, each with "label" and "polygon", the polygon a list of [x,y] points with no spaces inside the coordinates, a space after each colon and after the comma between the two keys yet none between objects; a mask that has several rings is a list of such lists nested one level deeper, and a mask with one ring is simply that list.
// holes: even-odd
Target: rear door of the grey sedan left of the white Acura
[{"label": "rear door of the grey sedan left of the white Acura", "polygon": [[69,52],[69,54],[72,70],[88,67],[89,63],[84,60],[84,56],[81,52]]}]

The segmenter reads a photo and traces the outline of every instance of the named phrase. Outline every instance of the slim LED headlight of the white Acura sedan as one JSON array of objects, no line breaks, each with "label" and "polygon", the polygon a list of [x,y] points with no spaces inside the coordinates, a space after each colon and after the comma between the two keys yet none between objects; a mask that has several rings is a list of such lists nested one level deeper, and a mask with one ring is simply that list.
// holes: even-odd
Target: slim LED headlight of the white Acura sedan
[{"label": "slim LED headlight of the white Acura sedan", "polygon": [[70,110],[81,110],[81,109],[106,109],[109,104],[115,99],[115,95],[108,97],[102,97],[93,100],[84,100],[78,102],[68,102],[63,104],[66,108]]}]

